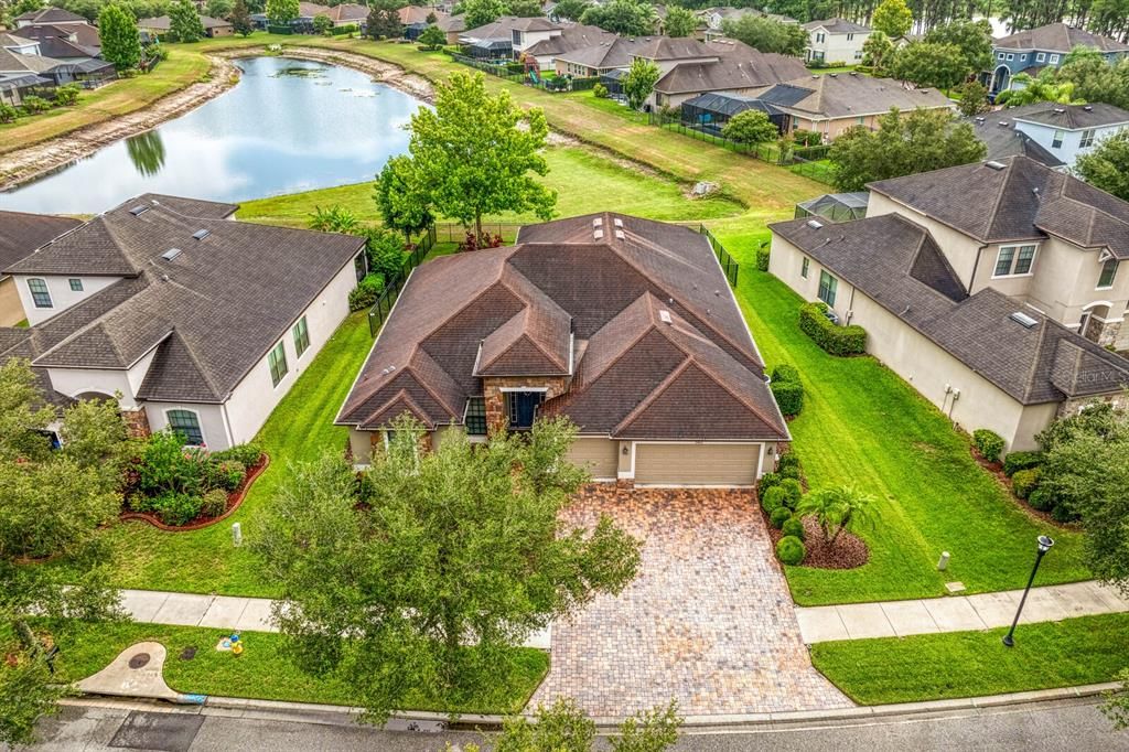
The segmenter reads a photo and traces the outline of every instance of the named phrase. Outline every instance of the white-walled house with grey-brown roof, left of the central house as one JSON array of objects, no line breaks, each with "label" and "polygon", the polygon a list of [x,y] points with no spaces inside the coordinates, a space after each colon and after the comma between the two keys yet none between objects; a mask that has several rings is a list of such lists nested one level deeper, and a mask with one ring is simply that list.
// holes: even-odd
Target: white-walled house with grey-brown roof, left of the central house
[{"label": "white-walled house with grey-brown roof, left of the central house", "polygon": [[0,329],[0,358],[68,399],[119,395],[139,431],[248,440],[348,314],[364,241],[236,209],[146,194],[8,264],[30,326]]}]

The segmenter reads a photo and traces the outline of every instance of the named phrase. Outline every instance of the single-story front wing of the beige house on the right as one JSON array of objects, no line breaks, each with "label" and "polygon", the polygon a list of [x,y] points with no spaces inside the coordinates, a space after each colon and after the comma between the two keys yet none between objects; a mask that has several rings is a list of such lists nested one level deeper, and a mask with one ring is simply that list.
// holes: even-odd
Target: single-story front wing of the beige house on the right
[{"label": "single-story front wing of the beige house on the right", "polygon": [[[881,195],[872,193],[872,209]],[[973,211],[978,198],[964,199]],[[1024,299],[988,285],[970,294],[949,261],[952,233],[909,212],[770,228],[771,273],[865,327],[867,352],[957,426],[999,434],[1007,451],[1035,448],[1056,417],[1095,399],[1120,401],[1129,385],[1129,360]]]}]

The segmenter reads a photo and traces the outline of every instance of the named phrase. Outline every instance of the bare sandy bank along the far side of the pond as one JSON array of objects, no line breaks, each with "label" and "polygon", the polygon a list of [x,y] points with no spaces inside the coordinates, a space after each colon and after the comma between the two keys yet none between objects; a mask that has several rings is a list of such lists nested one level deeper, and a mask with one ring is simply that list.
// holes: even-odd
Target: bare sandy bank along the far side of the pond
[{"label": "bare sandy bank along the far side of the pond", "polygon": [[[3,155],[0,158],[0,164],[2,164],[0,166],[0,191],[10,191],[46,173],[88,157],[103,147],[138,135],[184,115],[227,91],[239,81],[239,69],[234,63],[235,59],[266,54],[271,53],[261,46],[210,52],[205,55],[211,63],[207,80],[191,84],[143,110]],[[392,63],[365,55],[288,46],[281,56],[350,68],[425,102],[430,102],[434,94],[430,82],[426,79],[408,73]]]}]

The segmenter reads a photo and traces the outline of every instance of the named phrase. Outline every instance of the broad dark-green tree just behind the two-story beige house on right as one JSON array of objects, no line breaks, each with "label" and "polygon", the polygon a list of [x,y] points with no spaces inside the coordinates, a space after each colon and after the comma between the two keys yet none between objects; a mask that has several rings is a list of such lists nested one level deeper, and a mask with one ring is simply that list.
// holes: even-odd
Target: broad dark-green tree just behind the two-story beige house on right
[{"label": "broad dark-green tree just behind the two-story beige house on right", "polygon": [[878,119],[878,130],[856,125],[831,145],[835,187],[861,191],[870,181],[901,177],[984,158],[987,147],[968,123],[944,110],[898,108]]}]

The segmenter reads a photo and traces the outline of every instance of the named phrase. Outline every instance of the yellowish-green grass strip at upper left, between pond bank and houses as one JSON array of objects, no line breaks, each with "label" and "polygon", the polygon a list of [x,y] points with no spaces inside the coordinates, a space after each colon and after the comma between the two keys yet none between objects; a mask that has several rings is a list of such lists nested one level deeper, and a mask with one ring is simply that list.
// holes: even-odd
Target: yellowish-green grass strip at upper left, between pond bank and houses
[{"label": "yellowish-green grass strip at upper left, between pond bank and houses", "polygon": [[124,78],[94,91],[85,91],[72,107],[52,110],[0,125],[0,154],[147,107],[157,99],[199,81],[208,73],[209,68],[208,60],[199,52],[172,47],[168,60],[158,64],[151,73]]}]

